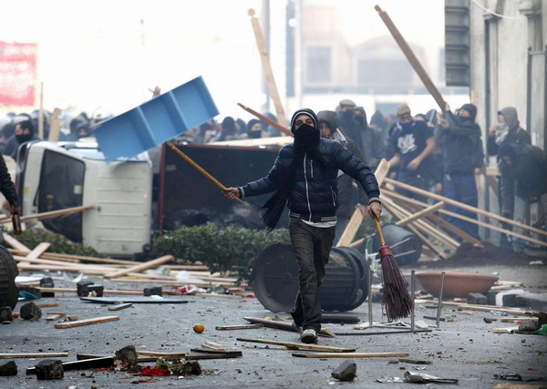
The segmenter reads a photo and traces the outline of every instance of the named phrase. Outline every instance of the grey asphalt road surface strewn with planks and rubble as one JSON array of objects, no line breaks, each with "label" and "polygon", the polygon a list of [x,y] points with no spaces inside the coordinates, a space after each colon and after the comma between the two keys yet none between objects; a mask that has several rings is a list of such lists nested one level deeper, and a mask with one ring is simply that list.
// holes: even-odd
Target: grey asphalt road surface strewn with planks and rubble
[{"label": "grey asphalt road surface strewn with planks and rubble", "polygon": [[[432,264],[428,265],[428,270]],[[409,268],[405,269],[405,272]],[[497,272],[501,280],[524,282],[532,290],[545,290],[545,267],[488,266],[459,268],[457,271]],[[103,283],[103,280],[97,280]],[[108,289],[119,289],[122,284],[104,281]],[[58,287],[69,287],[57,282]],[[124,288],[144,288],[145,285],[123,284]],[[325,387],[328,385],[353,385],[359,388],[408,387],[409,384],[379,384],[383,377],[403,377],[405,372],[433,374],[442,378],[459,380],[460,387],[491,388],[496,384],[509,383],[494,378],[494,374],[547,375],[547,337],[515,333],[490,333],[494,327],[509,327],[501,322],[501,316],[490,312],[463,314],[450,308],[442,310],[442,317],[456,322],[441,322],[439,329],[430,333],[389,334],[391,330],[353,330],[351,324],[325,324],[336,333],[355,333],[354,336],[337,336],[319,339],[319,344],[356,348],[357,352],[408,353],[408,358],[426,360],[431,364],[398,362],[395,357],[354,358],[357,377],[353,383],[340,383],[331,372],[345,358],[296,358],[293,351],[281,346],[259,343],[243,343],[238,337],[259,338],[275,341],[298,342],[295,333],[261,328],[253,330],[217,331],[215,326],[244,324],[244,316],[273,317],[273,312],[263,309],[254,298],[227,300],[196,296],[176,296],[187,300],[184,304],[134,304],[131,308],[109,312],[108,305],[80,302],[72,293],[57,294],[55,298],[42,298],[36,303],[57,302],[58,307],[44,308],[38,322],[16,319],[0,326],[0,353],[52,353],[66,352],[68,357],[56,358],[63,362],[76,360],[77,353],[112,354],[116,350],[135,345],[138,351],[189,352],[204,342],[221,343],[231,349],[241,350],[243,357],[232,359],[202,360],[201,368],[209,374],[180,378],[177,376],[154,377],[146,387]],[[15,308],[18,312],[21,303]],[[383,322],[381,305],[373,304],[373,318]],[[55,322],[46,322],[47,312],[67,312],[79,319],[117,314],[118,322],[105,322],[83,327],[56,329]],[[356,313],[368,322],[367,304],[358,307]],[[436,310],[418,305],[416,319],[424,315],[435,316]],[[283,319],[287,315],[280,313]],[[486,323],[484,317],[498,319]],[[204,324],[205,331],[194,333],[196,322]],[[427,321],[433,324],[433,321]],[[367,332],[385,331],[381,335],[360,335]],[[0,363],[9,361],[0,360]],[[26,368],[33,367],[39,359],[15,359],[18,375],[0,377],[0,388],[126,388],[139,380],[148,379],[127,372],[79,370],[65,372],[65,378],[56,381],[38,381],[35,375],[26,375]],[[153,364],[153,363],[147,363]],[[423,369],[423,370],[421,370]],[[533,383],[527,383],[533,384]],[[539,384],[539,383],[538,383]],[[544,383],[543,383],[544,384]],[[446,385],[440,384],[440,387]]]}]

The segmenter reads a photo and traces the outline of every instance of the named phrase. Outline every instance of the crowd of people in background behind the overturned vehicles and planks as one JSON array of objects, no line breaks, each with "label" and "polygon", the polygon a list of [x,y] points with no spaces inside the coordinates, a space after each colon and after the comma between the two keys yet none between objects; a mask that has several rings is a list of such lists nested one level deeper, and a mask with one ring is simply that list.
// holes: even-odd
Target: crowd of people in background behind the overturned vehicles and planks
[{"label": "crowd of people in background behind the overturned vehicles and planks", "polygon": [[[38,113],[34,110],[30,114],[10,113],[0,117],[0,152],[3,155],[15,159],[20,144],[38,139]],[[270,112],[263,115],[276,121]],[[345,98],[333,110],[318,112],[317,117],[322,138],[341,143],[373,171],[381,159],[387,159],[391,165],[391,178],[472,207],[479,204],[476,176],[485,164],[486,150],[488,156],[496,157],[501,172],[498,177],[501,215],[526,223],[530,220],[530,205],[537,201],[542,211],[536,227],[545,228],[547,225],[547,159],[541,148],[532,146],[529,133],[520,127],[514,107],[501,108],[498,123],[489,128],[484,142],[476,122],[477,107],[473,104],[464,104],[455,112],[447,106],[444,113],[431,109],[425,114],[414,115],[407,105],[402,105],[397,107],[395,115],[385,116],[376,111],[368,120],[363,107]],[[45,112],[45,139],[48,139],[50,118],[51,114]],[[94,115],[89,118],[81,112],[72,116],[64,113],[60,119],[58,140],[76,141],[92,137],[93,126],[103,117]],[[281,135],[278,129],[256,118],[245,122],[242,118],[225,117],[221,122],[211,119],[198,128],[192,128],[177,140],[210,143]],[[353,198],[358,198],[356,207],[366,212],[366,194],[361,190],[358,196],[354,196],[353,186],[353,180],[340,172],[337,237],[351,218]],[[396,190],[410,199],[428,201],[427,197],[415,191],[400,187]],[[477,219],[476,213],[469,210],[450,205],[446,208]],[[455,217],[448,220],[480,240],[477,224]],[[503,228],[511,230],[511,225],[504,224]],[[522,229],[515,231],[526,233]],[[515,251],[522,251],[524,243],[521,239],[501,234],[501,245],[511,246]]]}]

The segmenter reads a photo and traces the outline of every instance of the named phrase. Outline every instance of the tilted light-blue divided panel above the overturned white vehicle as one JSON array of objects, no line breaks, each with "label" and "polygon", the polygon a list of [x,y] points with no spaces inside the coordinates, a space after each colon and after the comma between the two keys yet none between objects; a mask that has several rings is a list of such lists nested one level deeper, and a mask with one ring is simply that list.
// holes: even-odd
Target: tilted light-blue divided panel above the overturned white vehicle
[{"label": "tilted light-blue divided panel above the overturned white vehicle", "polygon": [[219,111],[201,77],[152,98],[95,129],[108,161],[129,159],[214,118]]}]

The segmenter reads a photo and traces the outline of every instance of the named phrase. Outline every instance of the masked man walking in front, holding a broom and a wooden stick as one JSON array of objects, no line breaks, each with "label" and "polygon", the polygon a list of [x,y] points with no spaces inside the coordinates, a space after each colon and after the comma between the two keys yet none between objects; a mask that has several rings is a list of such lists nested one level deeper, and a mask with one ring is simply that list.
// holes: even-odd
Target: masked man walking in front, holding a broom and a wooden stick
[{"label": "masked man walking in front, holding a broom and a wooden stick", "polygon": [[335,238],[338,169],[365,190],[370,199],[368,212],[379,217],[382,207],[372,171],[340,143],[320,138],[314,111],[297,110],[291,131],[294,143],[281,148],[266,177],[223,192],[230,200],[274,192],[263,207],[263,222],[269,229],[274,229],[288,205],[289,234],[299,267],[299,291],[291,312],[293,326],[302,342],[316,343],[321,330],[318,288]]}]

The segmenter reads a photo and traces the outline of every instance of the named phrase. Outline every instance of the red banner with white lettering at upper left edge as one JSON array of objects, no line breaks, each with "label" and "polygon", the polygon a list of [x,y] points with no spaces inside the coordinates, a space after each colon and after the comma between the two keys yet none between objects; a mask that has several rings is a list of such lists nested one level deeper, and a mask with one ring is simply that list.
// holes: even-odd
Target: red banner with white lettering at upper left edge
[{"label": "red banner with white lettering at upper left edge", "polygon": [[0,105],[35,106],[34,43],[0,42]]}]

